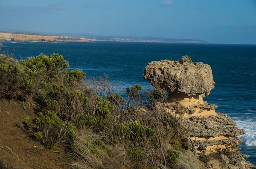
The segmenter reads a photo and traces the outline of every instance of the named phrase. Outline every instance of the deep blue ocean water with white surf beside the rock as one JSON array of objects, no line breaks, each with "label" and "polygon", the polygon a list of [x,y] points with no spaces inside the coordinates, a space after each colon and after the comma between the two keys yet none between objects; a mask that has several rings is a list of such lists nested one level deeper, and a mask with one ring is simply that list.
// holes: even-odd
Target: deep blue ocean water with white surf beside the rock
[{"label": "deep blue ocean water with white surf beside the rock", "polygon": [[189,55],[193,62],[207,63],[212,67],[215,89],[208,103],[219,106],[217,112],[228,114],[246,135],[240,136],[241,152],[250,155],[256,164],[256,45],[176,44],[176,43],[43,43],[3,42],[2,52],[15,49],[17,59],[37,54],[62,54],[70,69],[82,69],[87,77],[108,74],[113,82],[121,80],[126,86],[140,83],[143,70],[151,61],[175,59]]}]

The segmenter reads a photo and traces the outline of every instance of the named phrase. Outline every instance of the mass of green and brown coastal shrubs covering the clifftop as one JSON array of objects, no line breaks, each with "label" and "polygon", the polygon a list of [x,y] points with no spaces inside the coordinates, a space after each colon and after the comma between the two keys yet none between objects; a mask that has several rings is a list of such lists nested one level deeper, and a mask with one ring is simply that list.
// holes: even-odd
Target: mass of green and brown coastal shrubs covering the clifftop
[{"label": "mass of green and brown coastal shrubs covering the clifftop", "polygon": [[166,91],[139,84],[122,90],[107,76],[85,80],[68,67],[59,54],[20,61],[1,55],[0,97],[33,103],[38,117],[27,133],[51,151],[66,149],[74,168],[156,169],[189,149],[184,110],[166,112]]}]

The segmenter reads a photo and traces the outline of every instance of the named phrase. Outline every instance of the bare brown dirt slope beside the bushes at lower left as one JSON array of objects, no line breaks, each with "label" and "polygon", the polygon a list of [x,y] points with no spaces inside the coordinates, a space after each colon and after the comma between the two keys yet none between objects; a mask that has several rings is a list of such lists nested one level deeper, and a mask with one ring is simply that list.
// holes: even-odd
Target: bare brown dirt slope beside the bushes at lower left
[{"label": "bare brown dirt slope beside the bushes at lower left", "polygon": [[[26,116],[35,116],[17,100],[0,100],[0,160],[19,169],[65,169],[65,152],[50,152],[23,131]],[[26,126],[25,126],[26,127]]]}]

